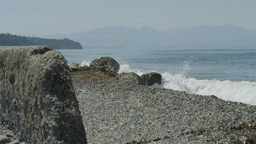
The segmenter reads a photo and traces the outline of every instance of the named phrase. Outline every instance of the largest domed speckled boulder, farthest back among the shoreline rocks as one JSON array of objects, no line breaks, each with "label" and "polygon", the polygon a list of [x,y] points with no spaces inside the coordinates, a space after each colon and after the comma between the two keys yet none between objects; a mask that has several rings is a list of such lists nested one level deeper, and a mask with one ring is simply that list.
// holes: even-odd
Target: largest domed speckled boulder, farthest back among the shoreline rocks
[{"label": "largest domed speckled boulder, farthest back among the shoreline rocks", "polygon": [[118,72],[120,69],[119,63],[111,57],[102,57],[100,59],[95,59],[90,63],[90,67],[100,70],[102,72]]}]

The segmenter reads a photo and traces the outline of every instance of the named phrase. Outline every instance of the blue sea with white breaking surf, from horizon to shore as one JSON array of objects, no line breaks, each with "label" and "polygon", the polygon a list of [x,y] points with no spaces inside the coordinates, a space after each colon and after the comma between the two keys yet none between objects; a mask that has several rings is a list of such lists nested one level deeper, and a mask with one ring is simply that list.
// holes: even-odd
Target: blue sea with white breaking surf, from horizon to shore
[{"label": "blue sea with white breaking surf, from horizon to shore", "polygon": [[69,64],[109,56],[121,72],[158,72],[164,88],[256,105],[256,49],[58,50]]}]

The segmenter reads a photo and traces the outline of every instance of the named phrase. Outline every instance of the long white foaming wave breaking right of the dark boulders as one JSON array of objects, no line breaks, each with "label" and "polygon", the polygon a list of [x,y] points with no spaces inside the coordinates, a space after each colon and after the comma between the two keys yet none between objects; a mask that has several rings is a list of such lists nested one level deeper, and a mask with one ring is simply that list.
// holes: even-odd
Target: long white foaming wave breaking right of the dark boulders
[{"label": "long white foaming wave breaking right of the dark boulders", "polygon": [[185,91],[190,94],[215,95],[226,101],[256,105],[256,82],[232,82],[230,80],[197,80],[184,74],[163,73],[164,88]]}]

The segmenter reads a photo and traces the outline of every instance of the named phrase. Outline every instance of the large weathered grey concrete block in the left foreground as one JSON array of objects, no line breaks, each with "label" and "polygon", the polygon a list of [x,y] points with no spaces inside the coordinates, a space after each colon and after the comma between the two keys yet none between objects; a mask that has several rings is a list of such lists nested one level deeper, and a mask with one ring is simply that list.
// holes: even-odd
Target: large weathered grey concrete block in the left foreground
[{"label": "large weathered grey concrete block in the left foreground", "polygon": [[69,66],[49,46],[0,46],[0,124],[34,144],[87,143]]}]

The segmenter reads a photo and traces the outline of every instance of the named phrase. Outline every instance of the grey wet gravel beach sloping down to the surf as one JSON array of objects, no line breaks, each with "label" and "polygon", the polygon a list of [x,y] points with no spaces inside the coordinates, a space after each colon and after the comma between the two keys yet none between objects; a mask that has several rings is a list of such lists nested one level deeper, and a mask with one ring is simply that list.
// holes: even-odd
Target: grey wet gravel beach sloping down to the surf
[{"label": "grey wet gravel beach sloping down to the surf", "polygon": [[256,143],[256,106],[72,72],[89,144]]}]

